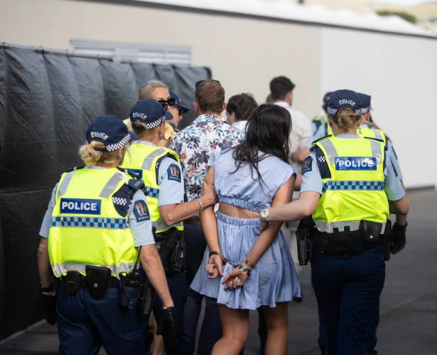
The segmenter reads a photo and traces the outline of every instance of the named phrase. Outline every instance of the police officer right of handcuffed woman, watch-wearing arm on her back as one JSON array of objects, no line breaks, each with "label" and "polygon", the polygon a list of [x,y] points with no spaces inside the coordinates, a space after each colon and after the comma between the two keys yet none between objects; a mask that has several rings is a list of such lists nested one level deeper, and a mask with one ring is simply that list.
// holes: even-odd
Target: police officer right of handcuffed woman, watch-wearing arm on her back
[{"label": "police officer right of handcuffed woman, watch-wearing arm on her back", "polygon": [[[329,355],[363,355],[390,257],[390,209],[409,202],[384,143],[361,138],[359,96],[338,90],[329,98],[333,135],[314,142],[302,166],[300,198],[264,209],[263,223],[314,219],[309,240],[298,239],[300,261],[312,258],[312,284],[327,328]],[[304,236],[307,234],[305,233]],[[313,243],[312,256],[305,243]],[[303,248],[302,248],[303,247]]]}]

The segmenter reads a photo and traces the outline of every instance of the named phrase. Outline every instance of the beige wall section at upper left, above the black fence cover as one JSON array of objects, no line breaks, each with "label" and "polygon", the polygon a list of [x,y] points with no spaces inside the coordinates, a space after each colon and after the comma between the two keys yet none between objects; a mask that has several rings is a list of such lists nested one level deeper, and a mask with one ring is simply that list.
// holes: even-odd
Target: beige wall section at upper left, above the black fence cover
[{"label": "beige wall section at upper left, above the black fence cover", "polygon": [[[139,4],[141,5],[141,4]],[[265,101],[274,76],[297,85],[295,107],[318,107],[320,31],[187,11],[68,0],[0,0],[0,41],[71,49],[70,40],[191,47],[194,65],[212,69],[227,98],[241,92]]]}]

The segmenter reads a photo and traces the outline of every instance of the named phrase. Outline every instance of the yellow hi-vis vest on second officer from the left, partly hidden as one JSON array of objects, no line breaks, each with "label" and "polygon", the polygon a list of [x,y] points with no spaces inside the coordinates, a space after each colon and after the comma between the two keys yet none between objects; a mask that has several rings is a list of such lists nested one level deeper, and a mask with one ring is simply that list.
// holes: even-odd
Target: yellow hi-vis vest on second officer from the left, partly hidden
[{"label": "yellow hi-vis vest on second officer from the left, partly hidden", "polygon": [[[182,222],[174,225],[166,225],[161,220],[158,199],[160,196],[160,185],[158,184],[158,168],[164,157],[171,157],[179,164],[178,155],[173,150],[164,147],[150,146],[148,144],[133,143],[124,157],[122,168],[128,169],[130,173],[137,175],[137,178],[144,182],[144,193],[146,194],[148,208],[151,214],[153,227],[157,233],[165,232],[172,227],[177,230],[184,230]],[[182,181],[182,176],[180,177]]]}]

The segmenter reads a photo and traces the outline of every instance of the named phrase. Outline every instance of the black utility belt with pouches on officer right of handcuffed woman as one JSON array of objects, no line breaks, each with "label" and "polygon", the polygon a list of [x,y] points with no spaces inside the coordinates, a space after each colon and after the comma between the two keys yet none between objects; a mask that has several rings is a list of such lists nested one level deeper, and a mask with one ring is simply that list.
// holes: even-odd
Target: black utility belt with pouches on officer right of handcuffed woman
[{"label": "black utility belt with pouches on officer right of handcuffed woman", "polygon": [[296,231],[300,265],[307,265],[308,261],[311,261],[314,244],[318,245],[318,250],[323,254],[343,256],[345,259],[381,245],[384,260],[390,260],[392,243],[390,220],[386,222],[384,234],[381,234],[382,223],[370,220],[361,220],[358,230],[350,231],[345,227],[344,232],[339,232],[334,228],[333,233],[319,232],[314,225],[308,226],[302,221]]}]

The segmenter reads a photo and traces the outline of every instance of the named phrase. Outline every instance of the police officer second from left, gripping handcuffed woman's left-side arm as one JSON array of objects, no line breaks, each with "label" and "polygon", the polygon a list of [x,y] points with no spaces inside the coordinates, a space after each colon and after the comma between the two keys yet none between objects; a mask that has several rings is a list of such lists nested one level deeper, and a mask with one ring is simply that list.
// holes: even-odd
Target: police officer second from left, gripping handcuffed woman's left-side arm
[{"label": "police officer second from left, gripping handcuffed woman's left-side arm", "polygon": [[[138,140],[133,141],[126,159],[124,168],[137,174],[146,185],[146,198],[150,207],[153,227],[156,228],[157,243],[169,241],[170,236],[178,234],[180,250],[178,260],[184,256],[182,220],[198,214],[203,208],[214,205],[216,196],[214,190],[205,188],[205,194],[198,200],[184,202],[184,180],[178,155],[170,150],[157,146],[165,133],[165,121],[173,116],[166,112],[159,102],[148,98],[138,101],[130,112],[132,128],[138,135]],[[187,299],[187,280],[183,273],[183,263],[175,268],[168,264],[166,277],[171,296],[175,302],[175,311],[180,324],[183,324],[184,306]],[[154,314],[159,323],[160,300],[156,300]],[[164,339],[165,341],[165,339]],[[191,354],[185,329],[175,340],[173,349],[166,346],[166,354]]]}]

